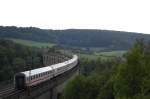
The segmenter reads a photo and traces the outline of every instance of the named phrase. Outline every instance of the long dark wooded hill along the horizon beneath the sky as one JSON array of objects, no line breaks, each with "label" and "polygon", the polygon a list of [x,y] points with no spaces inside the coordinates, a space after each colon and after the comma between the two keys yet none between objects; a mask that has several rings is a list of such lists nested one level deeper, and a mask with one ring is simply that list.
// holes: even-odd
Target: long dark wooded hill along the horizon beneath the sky
[{"label": "long dark wooded hill along the horizon beneath the sky", "polygon": [[136,38],[150,40],[150,35],[142,33],[110,30],[44,30],[34,27],[0,26],[1,38],[15,38],[37,42],[50,42],[65,46],[102,47],[108,49],[128,49]]}]

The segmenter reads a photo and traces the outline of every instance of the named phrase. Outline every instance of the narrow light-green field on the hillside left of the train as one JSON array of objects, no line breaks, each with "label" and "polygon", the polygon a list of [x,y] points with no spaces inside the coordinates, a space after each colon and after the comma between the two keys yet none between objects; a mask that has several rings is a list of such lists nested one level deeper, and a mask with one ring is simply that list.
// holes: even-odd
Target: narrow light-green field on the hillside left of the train
[{"label": "narrow light-green field on the hillside left of the train", "polygon": [[36,42],[36,41],[30,41],[30,40],[22,40],[22,39],[12,39],[9,38],[9,40],[14,41],[15,43],[22,44],[25,46],[30,46],[30,47],[53,47],[55,44],[53,43],[41,43],[41,42]]}]

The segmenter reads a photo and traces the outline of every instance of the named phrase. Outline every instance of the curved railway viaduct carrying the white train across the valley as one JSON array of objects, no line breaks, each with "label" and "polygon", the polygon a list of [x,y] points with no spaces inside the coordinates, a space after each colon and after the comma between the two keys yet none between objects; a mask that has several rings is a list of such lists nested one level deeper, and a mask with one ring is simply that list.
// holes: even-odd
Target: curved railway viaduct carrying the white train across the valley
[{"label": "curved railway viaduct carrying the white train across the valley", "polygon": [[[63,54],[46,53],[43,54],[43,63],[47,66],[69,60],[70,58],[71,57]],[[26,90],[14,89],[12,92],[1,95],[0,99],[59,99],[66,83],[75,75],[79,74],[78,68],[77,65],[49,81]]]}]

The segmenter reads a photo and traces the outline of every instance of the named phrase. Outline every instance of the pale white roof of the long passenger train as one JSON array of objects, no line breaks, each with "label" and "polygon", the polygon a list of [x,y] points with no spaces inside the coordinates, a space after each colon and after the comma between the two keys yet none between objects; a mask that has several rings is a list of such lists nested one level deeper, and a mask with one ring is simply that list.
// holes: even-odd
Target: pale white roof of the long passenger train
[{"label": "pale white roof of the long passenger train", "polygon": [[54,64],[54,65],[50,65],[50,66],[46,66],[46,67],[42,67],[42,68],[29,70],[29,71],[24,71],[24,72],[21,72],[21,73],[23,73],[26,77],[33,76],[33,75],[36,75],[36,74],[41,74],[43,72],[48,72],[48,71],[51,71],[53,69],[56,69],[56,68],[65,66],[67,64],[70,64],[73,61],[77,60],[77,58],[78,58],[77,55],[73,55],[73,58],[68,60],[68,61],[58,63],[58,64]]}]

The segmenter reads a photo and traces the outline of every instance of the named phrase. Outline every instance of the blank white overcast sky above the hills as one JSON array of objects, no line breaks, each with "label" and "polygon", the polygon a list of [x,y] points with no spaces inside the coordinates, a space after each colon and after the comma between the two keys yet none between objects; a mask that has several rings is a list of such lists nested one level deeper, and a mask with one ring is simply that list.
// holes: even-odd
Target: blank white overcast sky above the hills
[{"label": "blank white overcast sky above the hills", "polygon": [[150,34],[150,0],[0,0],[0,25]]}]

